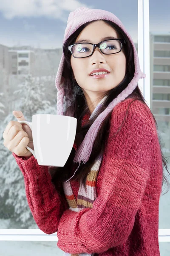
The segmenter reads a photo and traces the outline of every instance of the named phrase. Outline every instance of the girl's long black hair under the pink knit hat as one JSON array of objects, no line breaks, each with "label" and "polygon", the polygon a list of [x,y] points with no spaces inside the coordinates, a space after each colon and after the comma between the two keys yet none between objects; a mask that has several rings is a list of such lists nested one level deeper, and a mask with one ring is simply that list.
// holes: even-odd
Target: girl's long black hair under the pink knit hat
[{"label": "girl's long black hair under the pink knit hat", "polygon": [[[108,20],[104,20],[104,21],[106,23],[108,23],[110,26],[112,26],[113,29],[115,29],[117,31],[120,39],[121,38],[125,39],[126,44],[123,45],[122,51],[125,53],[126,60],[128,60],[128,61],[126,61],[126,74],[125,74],[124,79],[116,87],[107,91],[107,93],[105,95],[108,95],[108,98],[105,101],[105,103],[103,104],[102,108],[99,108],[95,117],[92,118],[91,120],[88,120],[88,122],[85,125],[83,125],[83,127],[81,126],[82,117],[86,113],[89,113],[89,108],[88,108],[84,93],[82,91],[82,88],[77,84],[77,81],[74,79],[73,70],[71,67],[71,52],[68,51],[68,46],[71,44],[75,44],[75,41],[76,41],[79,33],[82,31],[82,29],[84,29],[88,24],[94,22],[94,20],[80,26],[63,44],[63,52],[64,52],[64,56],[65,56],[63,73],[62,73],[62,76],[65,78],[64,115],[65,116],[74,116],[77,118],[77,131],[76,131],[76,137],[75,137],[75,143],[76,143],[77,147],[79,147],[79,145],[84,140],[85,135],[87,134],[87,132],[88,132],[89,128],[91,127],[91,125],[93,124],[93,122],[96,120],[97,116],[99,116],[99,114],[103,110],[105,110],[105,108],[107,108],[107,106],[109,105],[110,102],[113,101],[113,99],[115,99],[120,93],[122,93],[122,91],[127,87],[127,85],[130,83],[130,81],[133,79],[134,72],[135,72],[134,53],[133,53],[133,48],[129,41],[129,38],[123,32],[123,30],[119,26],[117,26],[115,23],[108,21]],[[133,101],[138,99],[146,105],[145,99],[142,96],[142,93],[141,93],[138,85],[135,88],[135,90],[133,90],[133,92],[127,98],[133,98]],[[127,109],[127,111],[128,111],[128,109]],[[110,125],[111,113],[112,113],[112,111],[105,117],[104,121],[102,122],[102,124],[99,128],[96,139],[94,141],[91,156],[87,163],[79,166],[79,163],[73,162],[74,156],[75,156],[75,149],[73,147],[71,154],[68,157],[67,162],[65,163],[65,166],[64,167],[53,167],[51,169],[51,176],[52,176],[51,181],[52,181],[52,183],[54,183],[54,185],[56,187],[59,187],[59,186],[61,187],[62,181],[68,180],[73,175],[73,174],[71,175],[71,170],[73,168],[75,170],[78,166],[79,166],[79,169],[77,170],[74,177],[72,177],[72,180],[78,180],[79,184],[82,183],[83,186],[85,187],[85,182],[86,182],[88,172],[91,169],[91,166],[94,164],[96,157],[98,157],[101,150],[104,149],[105,140],[107,138],[106,136],[108,134],[108,129],[109,129],[109,125]],[[158,125],[157,125],[157,122],[156,122],[154,116],[153,116],[153,119],[156,124],[156,129],[158,130]],[[123,120],[123,122],[124,122],[124,120]],[[123,122],[122,122],[122,124],[123,124]],[[159,143],[160,143],[160,137],[159,137]],[[161,145],[161,143],[160,143],[160,145]],[[167,163],[166,163],[167,160],[163,156],[162,152],[161,152],[161,155],[162,155],[162,163],[168,172]],[[170,175],[170,173],[169,173],[169,175]],[[169,191],[169,181],[167,180],[166,176],[164,175],[164,171],[163,171],[162,186],[163,186],[164,182],[167,183],[168,191]]]}]

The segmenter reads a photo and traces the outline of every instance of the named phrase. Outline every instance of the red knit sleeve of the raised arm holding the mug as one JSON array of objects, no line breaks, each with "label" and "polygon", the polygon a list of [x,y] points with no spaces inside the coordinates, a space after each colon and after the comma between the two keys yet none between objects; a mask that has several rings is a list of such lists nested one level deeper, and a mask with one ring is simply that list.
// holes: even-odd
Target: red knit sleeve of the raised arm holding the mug
[{"label": "red knit sleeve of the raised arm holding the mug", "polygon": [[46,234],[57,232],[59,220],[69,208],[62,188],[56,190],[49,167],[40,166],[33,155],[12,155],[23,173],[28,206],[37,226]]}]

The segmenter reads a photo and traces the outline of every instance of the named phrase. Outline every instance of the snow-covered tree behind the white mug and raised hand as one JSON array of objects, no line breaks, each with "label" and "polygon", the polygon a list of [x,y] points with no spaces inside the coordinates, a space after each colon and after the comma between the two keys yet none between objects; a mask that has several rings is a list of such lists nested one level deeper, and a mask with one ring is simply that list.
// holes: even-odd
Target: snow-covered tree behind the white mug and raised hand
[{"label": "snow-covered tree behind the white mug and raised hand", "polygon": [[[42,81],[32,76],[19,85],[17,109],[23,112],[26,120],[32,122],[34,114],[56,114],[56,102],[50,105],[45,98]],[[0,123],[0,218],[10,220],[10,228],[38,228],[28,207],[23,174],[11,151],[3,145],[3,132],[11,120],[17,121],[12,113]]]}]

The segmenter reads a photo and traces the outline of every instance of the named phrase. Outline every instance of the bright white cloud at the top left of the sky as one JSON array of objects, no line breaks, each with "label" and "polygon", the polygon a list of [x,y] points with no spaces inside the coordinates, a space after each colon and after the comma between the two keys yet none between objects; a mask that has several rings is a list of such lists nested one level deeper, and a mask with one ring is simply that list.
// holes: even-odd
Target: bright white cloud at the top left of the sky
[{"label": "bright white cloud at the top left of the sky", "polygon": [[66,12],[81,6],[88,7],[79,0],[1,0],[0,12],[8,20],[14,17],[48,17],[67,22]]}]

